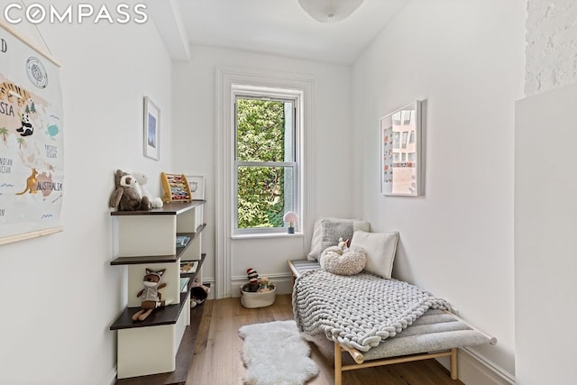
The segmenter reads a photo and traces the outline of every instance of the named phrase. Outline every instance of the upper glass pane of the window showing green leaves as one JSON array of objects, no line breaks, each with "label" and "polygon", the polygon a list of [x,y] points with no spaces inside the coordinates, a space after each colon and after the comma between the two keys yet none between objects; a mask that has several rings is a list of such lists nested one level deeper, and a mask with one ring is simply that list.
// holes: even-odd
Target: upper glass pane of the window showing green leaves
[{"label": "upper glass pane of the window showing green leaves", "polygon": [[293,161],[293,103],[236,99],[236,160]]}]

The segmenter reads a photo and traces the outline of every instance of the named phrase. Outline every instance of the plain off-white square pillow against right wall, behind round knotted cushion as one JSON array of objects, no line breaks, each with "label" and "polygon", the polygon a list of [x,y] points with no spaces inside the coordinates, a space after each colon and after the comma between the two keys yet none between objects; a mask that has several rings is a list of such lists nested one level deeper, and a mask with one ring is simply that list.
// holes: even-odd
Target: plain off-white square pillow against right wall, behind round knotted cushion
[{"label": "plain off-white square pillow against right wall, behind round knotted cushion", "polygon": [[398,232],[367,233],[355,231],[351,247],[361,246],[367,253],[364,270],[382,278],[390,278],[397,252]]}]

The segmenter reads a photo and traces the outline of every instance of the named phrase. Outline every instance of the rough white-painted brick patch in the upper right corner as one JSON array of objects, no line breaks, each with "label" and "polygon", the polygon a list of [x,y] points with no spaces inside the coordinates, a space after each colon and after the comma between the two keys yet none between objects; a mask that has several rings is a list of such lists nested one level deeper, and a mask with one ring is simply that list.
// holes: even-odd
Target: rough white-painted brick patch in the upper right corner
[{"label": "rough white-painted brick patch in the upper right corner", "polygon": [[576,81],[577,0],[528,0],[526,96]]}]

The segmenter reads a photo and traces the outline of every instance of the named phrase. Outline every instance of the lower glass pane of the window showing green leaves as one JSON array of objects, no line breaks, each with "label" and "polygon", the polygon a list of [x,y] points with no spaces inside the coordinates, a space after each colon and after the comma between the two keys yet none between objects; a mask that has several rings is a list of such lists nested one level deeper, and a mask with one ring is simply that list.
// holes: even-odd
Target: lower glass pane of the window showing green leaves
[{"label": "lower glass pane of the window showing green leaves", "polygon": [[291,167],[238,167],[238,228],[284,227],[293,201]]}]

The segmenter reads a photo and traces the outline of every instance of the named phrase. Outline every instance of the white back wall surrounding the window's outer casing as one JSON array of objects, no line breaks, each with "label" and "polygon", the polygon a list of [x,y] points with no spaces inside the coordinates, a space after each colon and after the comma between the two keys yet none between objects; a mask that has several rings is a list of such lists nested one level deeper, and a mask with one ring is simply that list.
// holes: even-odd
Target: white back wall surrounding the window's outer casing
[{"label": "white back wall surrounding the window's outer casing", "polygon": [[[215,69],[246,68],[268,72],[305,74],[314,79],[313,127],[315,130],[316,181],[314,206],[318,215],[352,213],[351,86],[350,67],[295,60],[241,50],[193,45],[190,63],[175,65],[175,170],[206,176],[203,237],[207,254],[205,280],[215,278]],[[308,233],[311,230],[308,229]],[[289,290],[287,259],[302,258],[308,252],[307,238],[274,238],[234,241],[231,285],[246,282],[246,269],[282,281]],[[237,293],[233,290],[233,293]]]}]

